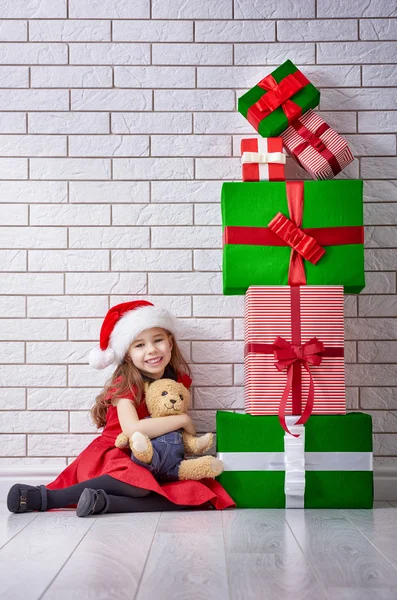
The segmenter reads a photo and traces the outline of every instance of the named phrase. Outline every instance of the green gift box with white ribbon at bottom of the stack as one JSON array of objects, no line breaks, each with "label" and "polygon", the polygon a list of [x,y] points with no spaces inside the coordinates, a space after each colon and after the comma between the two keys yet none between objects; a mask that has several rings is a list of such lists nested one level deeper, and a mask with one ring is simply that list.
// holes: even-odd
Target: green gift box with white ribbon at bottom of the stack
[{"label": "green gift box with white ribbon at bottom of the stack", "polygon": [[[304,427],[301,507],[372,508],[371,416],[312,415],[299,427]],[[218,411],[216,430],[217,453],[225,464],[218,480],[238,508],[299,507],[287,499],[287,479],[292,495],[299,480],[294,448],[287,451],[296,438],[284,436],[276,415]]]}]

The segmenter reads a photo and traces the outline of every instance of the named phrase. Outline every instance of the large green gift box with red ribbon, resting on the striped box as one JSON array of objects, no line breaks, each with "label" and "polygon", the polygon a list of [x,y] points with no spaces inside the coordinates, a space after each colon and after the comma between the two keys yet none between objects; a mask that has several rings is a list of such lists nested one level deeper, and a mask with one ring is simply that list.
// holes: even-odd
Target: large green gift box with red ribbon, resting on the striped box
[{"label": "large green gift box with red ribbon, resting on the striped box", "polygon": [[363,182],[222,186],[223,293],[251,285],[365,286]]}]

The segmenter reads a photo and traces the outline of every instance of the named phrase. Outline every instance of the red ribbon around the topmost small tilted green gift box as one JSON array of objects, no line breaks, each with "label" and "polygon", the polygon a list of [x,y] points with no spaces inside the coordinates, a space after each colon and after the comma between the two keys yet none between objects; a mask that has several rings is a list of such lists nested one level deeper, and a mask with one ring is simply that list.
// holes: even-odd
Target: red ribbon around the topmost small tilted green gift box
[{"label": "red ribbon around the topmost small tilted green gift box", "polygon": [[307,77],[299,70],[295,71],[295,73],[290,73],[279,83],[277,83],[273,75],[267,75],[267,77],[264,77],[264,79],[257,83],[257,86],[266,90],[267,93],[248,109],[248,122],[258,131],[259,123],[276,110],[276,108],[281,106],[289,125],[302,114],[302,108],[298,104],[295,104],[295,102],[292,102],[290,98],[309,83],[310,81]]}]

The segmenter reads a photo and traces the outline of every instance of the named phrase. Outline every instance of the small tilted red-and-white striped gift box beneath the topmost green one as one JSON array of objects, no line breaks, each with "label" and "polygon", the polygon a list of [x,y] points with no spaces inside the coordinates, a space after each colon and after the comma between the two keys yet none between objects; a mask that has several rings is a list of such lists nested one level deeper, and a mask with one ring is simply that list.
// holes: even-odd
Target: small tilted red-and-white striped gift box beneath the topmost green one
[{"label": "small tilted red-and-white striped gift box beneath the topmost green one", "polygon": [[354,156],[348,143],[313,110],[282,133],[284,146],[313,179],[333,179]]}]

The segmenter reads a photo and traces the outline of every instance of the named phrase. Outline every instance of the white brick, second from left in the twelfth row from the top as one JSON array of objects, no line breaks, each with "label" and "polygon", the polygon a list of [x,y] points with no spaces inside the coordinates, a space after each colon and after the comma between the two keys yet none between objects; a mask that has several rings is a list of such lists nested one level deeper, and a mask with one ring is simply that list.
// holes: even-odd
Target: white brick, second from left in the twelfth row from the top
[{"label": "white brick, second from left in the twelfth row from the top", "polygon": [[29,250],[29,271],[108,271],[107,250]]}]

